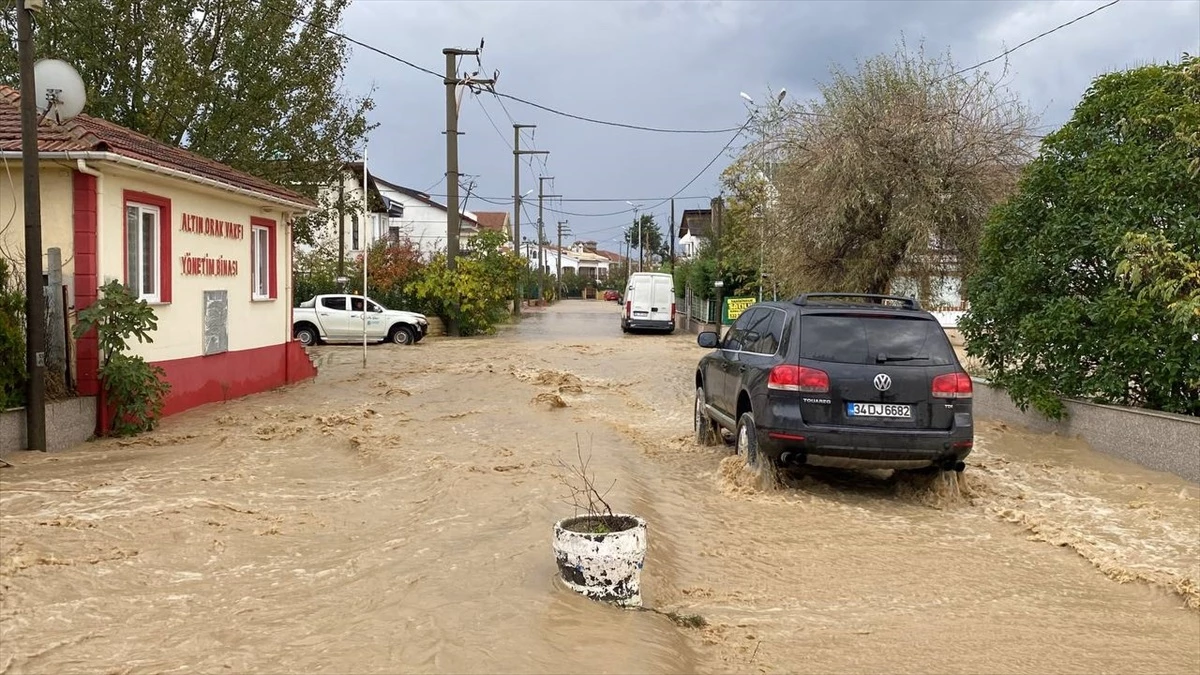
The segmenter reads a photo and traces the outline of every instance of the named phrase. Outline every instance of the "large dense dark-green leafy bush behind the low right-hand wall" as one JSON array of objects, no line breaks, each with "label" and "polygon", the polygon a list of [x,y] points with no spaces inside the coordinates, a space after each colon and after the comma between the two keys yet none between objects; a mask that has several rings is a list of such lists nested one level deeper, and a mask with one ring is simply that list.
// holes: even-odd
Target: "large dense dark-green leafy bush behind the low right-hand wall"
[{"label": "large dense dark-green leafy bush behind the low right-hand wall", "polygon": [[959,327],[1022,410],[1200,414],[1195,129],[1200,59],[1102,76],[992,213]]}]

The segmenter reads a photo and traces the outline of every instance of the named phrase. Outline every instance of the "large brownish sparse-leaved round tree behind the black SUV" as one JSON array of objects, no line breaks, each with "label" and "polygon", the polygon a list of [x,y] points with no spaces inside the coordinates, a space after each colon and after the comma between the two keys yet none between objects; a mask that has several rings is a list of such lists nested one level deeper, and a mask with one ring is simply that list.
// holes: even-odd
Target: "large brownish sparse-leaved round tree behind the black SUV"
[{"label": "large brownish sparse-leaved round tree behind the black SUV", "polygon": [[770,179],[767,267],[787,291],[970,274],[1034,145],[1032,115],[997,78],[902,43],[835,68],[815,102],[769,106],[782,109],[756,115],[770,132],[743,160]]}]

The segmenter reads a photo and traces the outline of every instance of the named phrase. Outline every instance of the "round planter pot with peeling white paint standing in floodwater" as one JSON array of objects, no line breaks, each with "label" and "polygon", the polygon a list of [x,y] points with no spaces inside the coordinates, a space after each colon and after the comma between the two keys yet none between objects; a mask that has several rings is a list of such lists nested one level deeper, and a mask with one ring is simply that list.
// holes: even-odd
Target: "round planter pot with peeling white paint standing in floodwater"
[{"label": "round planter pot with peeling white paint standing in floodwater", "polygon": [[646,521],[641,518],[564,518],[554,524],[554,558],[572,591],[618,607],[642,607]]}]

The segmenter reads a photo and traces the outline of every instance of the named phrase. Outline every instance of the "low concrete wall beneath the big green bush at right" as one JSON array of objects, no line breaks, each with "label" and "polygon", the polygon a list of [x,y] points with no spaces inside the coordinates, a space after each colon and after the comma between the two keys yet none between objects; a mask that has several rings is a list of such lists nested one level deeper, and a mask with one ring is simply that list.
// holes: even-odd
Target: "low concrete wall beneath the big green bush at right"
[{"label": "low concrete wall beneath the big green bush at right", "polygon": [[1076,436],[1102,453],[1200,483],[1200,418],[1067,400],[1068,417],[1054,422],[1033,408],[1021,412],[986,380],[972,380],[976,417]]}]

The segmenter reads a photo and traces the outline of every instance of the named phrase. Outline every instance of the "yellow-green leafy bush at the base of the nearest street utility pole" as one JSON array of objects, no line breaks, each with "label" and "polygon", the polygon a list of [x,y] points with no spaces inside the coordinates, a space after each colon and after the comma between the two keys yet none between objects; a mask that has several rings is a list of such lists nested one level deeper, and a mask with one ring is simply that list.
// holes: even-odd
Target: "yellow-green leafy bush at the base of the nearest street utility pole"
[{"label": "yellow-green leafy bush at the base of the nearest street utility pole", "polygon": [[503,233],[480,232],[455,261],[455,271],[438,253],[406,291],[426,303],[428,313],[455,319],[462,335],[493,333],[508,316],[512,289],[528,268],[524,258],[502,249],[504,243]]}]

